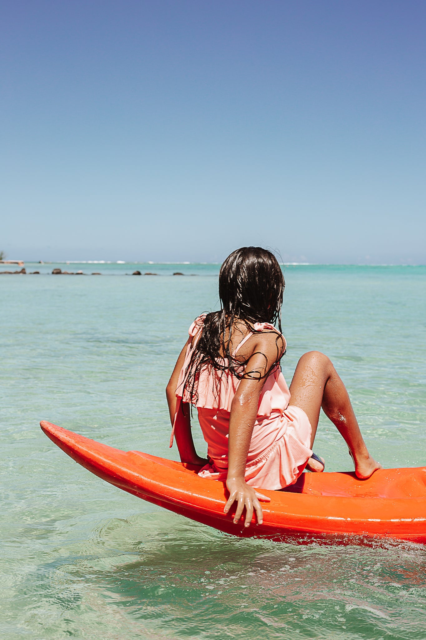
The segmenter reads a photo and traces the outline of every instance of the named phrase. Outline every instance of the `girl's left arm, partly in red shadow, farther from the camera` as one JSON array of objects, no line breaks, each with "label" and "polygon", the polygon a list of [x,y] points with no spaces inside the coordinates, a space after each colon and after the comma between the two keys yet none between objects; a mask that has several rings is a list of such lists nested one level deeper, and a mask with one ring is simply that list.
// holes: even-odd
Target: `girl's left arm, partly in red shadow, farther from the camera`
[{"label": "girl's left arm, partly in red shadow, farther from the camera", "polygon": [[[191,340],[191,338],[189,340]],[[176,413],[176,387],[178,386],[179,373],[181,372],[183,363],[185,362],[185,353],[188,342],[186,342],[185,347],[179,354],[179,358],[176,361],[171,378],[165,389],[171,424],[173,424],[174,414]],[[174,437],[176,438],[176,444],[178,445],[181,462],[187,462],[192,465],[205,465],[207,460],[200,458],[195,451],[194,440],[192,440],[190,406],[188,403],[181,403],[179,414],[181,415],[179,415],[176,420]]]}]

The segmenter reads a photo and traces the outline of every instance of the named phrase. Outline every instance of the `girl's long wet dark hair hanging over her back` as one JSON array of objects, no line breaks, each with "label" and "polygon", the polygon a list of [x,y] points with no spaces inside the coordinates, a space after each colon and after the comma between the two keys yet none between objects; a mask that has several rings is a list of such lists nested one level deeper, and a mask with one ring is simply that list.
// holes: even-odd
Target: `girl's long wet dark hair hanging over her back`
[{"label": "girl's long wet dark hair hanging over her back", "polygon": [[201,336],[185,371],[184,388],[189,392],[192,404],[197,403],[199,372],[206,365],[218,372],[229,370],[240,379],[261,379],[279,364],[283,355],[278,344],[282,340],[280,335],[277,334],[276,340],[277,358],[263,375],[261,371],[245,371],[248,360],[242,362],[232,356],[231,337],[237,320],[243,321],[249,331],[253,331],[252,325],[257,322],[278,323],[281,333],[284,287],[284,275],[278,260],[267,249],[245,246],[227,257],[219,273],[220,311],[206,315]]}]

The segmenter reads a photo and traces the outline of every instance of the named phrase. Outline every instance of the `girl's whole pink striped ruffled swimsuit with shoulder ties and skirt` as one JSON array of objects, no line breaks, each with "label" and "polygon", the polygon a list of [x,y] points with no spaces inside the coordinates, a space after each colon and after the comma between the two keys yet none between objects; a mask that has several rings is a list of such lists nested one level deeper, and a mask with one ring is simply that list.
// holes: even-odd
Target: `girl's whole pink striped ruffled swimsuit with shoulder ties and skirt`
[{"label": "girl's whole pink striped ruffled swimsuit with shoulder ties and skirt", "polygon": [[[197,317],[189,328],[194,337],[202,329],[206,314]],[[254,331],[276,331],[269,323],[255,323]],[[238,349],[254,333],[248,335],[234,350]],[[277,332],[277,335],[278,332]],[[285,344],[285,340],[284,340]],[[187,367],[195,344],[188,343],[185,362],[176,387],[178,407],[180,401],[190,403],[190,394],[183,388]],[[226,362],[226,360],[224,360]],[[241,367],[241,372],[243,367]],[[199,423],[208,444],[210,462],[199,475],[225,480],[228,466],[229,415],[232,399],[240,380],[231,371],[217,371],[211,365],[202,367],[196,380],[197,410]],[[262,388],[259,398],[250,447],[247,455],[245,480],[248,484],[265,489],[280,489],[293,483],[310,458],[311,426],[306,413],[289,404],[289,388],[279,365],[274,367]],[[175,419],[176,420],[176,419]]]}]

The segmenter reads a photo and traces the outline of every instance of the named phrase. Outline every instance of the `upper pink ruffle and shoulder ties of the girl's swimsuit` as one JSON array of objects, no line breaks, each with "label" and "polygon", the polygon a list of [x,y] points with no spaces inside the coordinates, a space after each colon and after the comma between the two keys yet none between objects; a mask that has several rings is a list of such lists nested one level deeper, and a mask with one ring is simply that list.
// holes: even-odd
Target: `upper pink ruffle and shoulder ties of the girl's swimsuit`
[{"label": "upper pink ruffle and shoulder ties of the girl's swimsuit", "polygon": [[[207,314],[202,314],[191,324],[188,330],[190,337],[197,335],[197,332],[204,326],[204,318],[206,315]],[[260,333],[265,329],[275,331],[273,324],[254,324],[255,332]],[[253,333],[248,333],[245,339],[243,339],[235,349],[234,353],[236,353],[241,344],[252,335]],[[183,389],[183,384],[185,382],[192,351],[193,348],[188,344],[188,347],[186,348],[185,362],[179,374],[178,386],[176,387],[176,396],[181,397],[185,403],[190,403],[190,393],[188,390]],[[227,360],[224,358],[224,364],[226,362]],[[241,367],[241,372],[243,372],[243,367]],[[197,408],[219,409],[230,412],[232,400],[234,399],[234,395],[236,394],[239,384],[240,380],[234,376],[231,371],[227,369],[225,369],[225,371],[218,371],[218,369],[214,369],[211,365],[205,365],[199,372],[198,378],[195,381],[195,392],[197,396],[197,403],[195,406],[197,406]],[[289,401],[289,388],[287,387],[287,383],[284,380],[280,367],[277,365],[277,367],[270,372],[264,383],[264,387],[259,398],[259,409],[257,410],[257,415],[264,416],[271,415],[271,413],[283,412],[287,408]]]}]

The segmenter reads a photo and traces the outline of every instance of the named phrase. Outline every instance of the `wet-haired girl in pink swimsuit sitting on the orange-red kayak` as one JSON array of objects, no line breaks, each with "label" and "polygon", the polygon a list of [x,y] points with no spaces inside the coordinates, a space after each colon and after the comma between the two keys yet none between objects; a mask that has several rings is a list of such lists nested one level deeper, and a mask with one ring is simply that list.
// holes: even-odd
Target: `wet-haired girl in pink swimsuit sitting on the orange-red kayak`
[{"label": "wet-haired girl in pink swimsuit sitting on the orange-red kayak", "polygon": [[[222,308],[192,323],[166,390],[171,445],[175,435],[182,462],[203,465],[199,476],[226,482],[224,511],[237,501],[234,523],[246,508],[246,527],[253,509],[262,524],[259,500],[270,500],[255,489],[280,490],[305,467],[324,470],[312,452],[321,408],[344,437],[356,476],[368,478],[381,468],[367,451],[347,390],[327,356],[301,356],[287,387],[280,369],[283,292],[284,276],[271,252],[232,252],[220,268]],[[190,404],[198,410],[208,460],[195,451]]]}]

